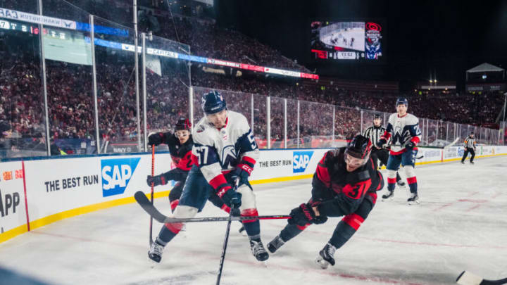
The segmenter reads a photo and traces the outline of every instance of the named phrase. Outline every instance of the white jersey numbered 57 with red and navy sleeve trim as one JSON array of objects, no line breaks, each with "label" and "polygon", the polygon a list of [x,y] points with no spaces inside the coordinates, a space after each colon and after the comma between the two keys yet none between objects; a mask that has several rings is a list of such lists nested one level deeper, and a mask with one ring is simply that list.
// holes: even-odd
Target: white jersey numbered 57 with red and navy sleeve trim
[{"label": "white jersey numbered 57 with red and navy sleeve trim", "polygon": [[248,165],[244,169],[251,171],[259,156],[245,116],[231,110],[227,110],[225,127],[217,129],[204,117],[195,126],[192,137],[192,154],[208,183],[217,190],[226,183],[223,173],[242,165]]}]

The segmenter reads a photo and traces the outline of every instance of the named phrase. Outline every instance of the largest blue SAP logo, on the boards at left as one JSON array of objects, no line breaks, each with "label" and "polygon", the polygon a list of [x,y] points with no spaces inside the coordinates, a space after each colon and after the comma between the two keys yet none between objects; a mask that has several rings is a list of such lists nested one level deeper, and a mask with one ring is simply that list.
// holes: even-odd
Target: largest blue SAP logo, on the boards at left
[{"label": "largest blue SAP logo, on the boards at left", "polygon": [[141,158],[101,160],[102,196],[123,194]]}]

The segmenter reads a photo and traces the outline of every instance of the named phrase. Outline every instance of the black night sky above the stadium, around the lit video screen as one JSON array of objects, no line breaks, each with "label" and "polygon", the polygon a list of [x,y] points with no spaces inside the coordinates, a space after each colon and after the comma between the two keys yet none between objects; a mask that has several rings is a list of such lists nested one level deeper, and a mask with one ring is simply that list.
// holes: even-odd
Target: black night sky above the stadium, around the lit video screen
[{"label": "black night sky above the stadium, around the lit video screen", "polygon": [[[319,75],[396,80],[409,87],[436,75],[464,84],[465,70],[507,67],[507,1],[215,0],[218,25],[275,47]],[[311,19],[384,20],[384,63],[315,65]]]}]

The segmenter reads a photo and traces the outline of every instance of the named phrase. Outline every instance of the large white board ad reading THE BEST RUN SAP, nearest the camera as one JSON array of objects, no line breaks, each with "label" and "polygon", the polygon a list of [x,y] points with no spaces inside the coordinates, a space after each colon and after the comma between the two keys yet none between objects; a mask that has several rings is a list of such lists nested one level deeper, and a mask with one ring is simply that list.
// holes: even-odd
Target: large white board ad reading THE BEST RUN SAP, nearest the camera
[{"label": "large white board ad reading THE BEST RUN SAP, nearest the camera", "polygon": [[[171,169],[168,153],[155,159],[155,175]],[[149,192],[146,175],[151,174],[151,155],[103,156],[33,160],[25,163],[30,220],[85,205],[132,197]],[[168,191],[170,185],[155,191]],[[30,203],[37,201],[37,203]]]}]

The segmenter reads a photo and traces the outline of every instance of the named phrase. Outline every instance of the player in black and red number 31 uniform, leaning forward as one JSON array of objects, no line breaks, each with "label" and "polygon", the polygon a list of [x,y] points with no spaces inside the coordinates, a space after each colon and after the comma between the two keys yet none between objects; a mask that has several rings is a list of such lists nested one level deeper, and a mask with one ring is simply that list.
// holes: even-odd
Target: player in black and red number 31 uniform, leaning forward
[{"label": "player in black and red number 31 uniform, leaning forward", "polygon": [[323,269],[334,265],[334,251],[359,229],[377,201],[376,191],[384,186],[377,160],[370,158],[371,149],[370,139],[358,135],[346,147],[325,153],[313,175],[310,201],[291,211],[287,226],[268,243],[271,253],[310,224],[344,216],[315,260]]}]

